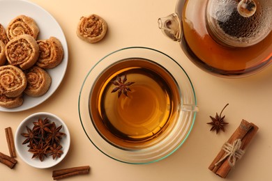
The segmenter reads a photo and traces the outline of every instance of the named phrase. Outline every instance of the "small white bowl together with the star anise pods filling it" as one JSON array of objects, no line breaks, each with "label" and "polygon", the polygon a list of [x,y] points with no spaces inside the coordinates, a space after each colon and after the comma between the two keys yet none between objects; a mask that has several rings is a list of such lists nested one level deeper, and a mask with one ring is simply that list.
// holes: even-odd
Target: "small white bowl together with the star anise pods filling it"
[{"label": "small white bowl together with the star anise pods filling it", "polygon": [[22,120],[15,132],[15,149],[22,161],[35,168],[59,164],[70,148],[70,132],[58,116],[33,113]]}]

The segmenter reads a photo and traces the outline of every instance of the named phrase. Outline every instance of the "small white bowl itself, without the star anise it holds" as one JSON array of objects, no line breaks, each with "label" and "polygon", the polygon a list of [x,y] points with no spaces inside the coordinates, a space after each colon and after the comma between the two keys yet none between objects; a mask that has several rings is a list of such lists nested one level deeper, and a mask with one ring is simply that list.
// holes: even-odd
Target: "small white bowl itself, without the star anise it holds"
[{"label": "small white bowl itself, without the star anise it holds", "polygon": [[[56,127],[62,125],[60,132],[63,132],[66,135],[63,136],[61,139],[61,145],[63,147],[62,148],[63,154],[61,155],[61,157],[56,157],[55,159],[53,159],[51,156],[48,156],[43,159],[43,162],[41,162],[40,159],[38,159],[37,157],[32,158],[33,153],[28,151],[29,150],[29,147],[27,147],[28,144],[24,145],[22,144],[26,138],[21,134],[27,133],[26,126],[32,129],[33,122],[38,121],[38,118],[42,119],[48,118],[50,120],[50,123],[54,122],[56,124]],[[24,162],[36,168],[50,168],[52,166],[55,166],[56,164],[59,164],[59,162],[61,162],[61,160],[63,160],[63,158],[67,155],[69,147],[70,147],[70,133],[68,127],[63,122],[63,120],[61,120],[61,118],[52,113],[40,112],[31,114],[30,116],[25,118],[22,121],[22,123],[20,123],[15,132],[15,148],[17,150],[17,154],[22,158]]]}]

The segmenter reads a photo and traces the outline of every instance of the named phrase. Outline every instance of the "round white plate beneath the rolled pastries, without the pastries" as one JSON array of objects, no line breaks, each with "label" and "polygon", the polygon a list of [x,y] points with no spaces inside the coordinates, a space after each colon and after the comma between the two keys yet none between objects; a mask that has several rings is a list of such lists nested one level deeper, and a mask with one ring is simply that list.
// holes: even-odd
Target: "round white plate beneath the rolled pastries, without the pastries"
[{"label": "round white plate beneath the rolled pastries, without the pastries", "polygon": [[56,91],[56,89],[59,87],[59,84],[61,84],[68,64],[68,46],[66,38],[63,34],[61,26],[59,26],[58,22],[56,22],[50,13],[29,1],[0,0],[0,24],[6,28],[8,23],[18,15],[27,15],[36,21],[40,29],[40,33],[37,39],[47,39],[50,38],[50,36],[58,38],[63,46],[64,56],[60,65],[58,65],[56,68],[47,70],[47,72],[52,77],[52,84],[45,95],[41,97],[29,97],[24,95],[24,103],[22,106],[15,107],[13,109],[0,107],[0,111],[6,112],[24,111],[31,109],[47,100],[47,98],[49,98],[54,93],[54,91]]}]

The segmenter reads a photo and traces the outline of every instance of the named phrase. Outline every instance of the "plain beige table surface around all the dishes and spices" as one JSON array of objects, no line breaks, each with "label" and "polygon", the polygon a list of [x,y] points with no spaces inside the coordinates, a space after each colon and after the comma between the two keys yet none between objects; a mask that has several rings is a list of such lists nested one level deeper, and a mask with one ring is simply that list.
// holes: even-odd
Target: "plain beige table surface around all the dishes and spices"
[{"label": "plain beige table surface around all the dishes and spices", "polygon": [[[215,77],[197,68],[179,44],[165,38],[158,29],[158,17],[173,13],[176,0],[31,1],[52,14],[63,29],[69,49],[68,68],[61,86],[43,104],[27,111],[0,113],[0,151],[8,154],[4,128],[10,126],[15,133],[24,118],[39,111],[54,113],[66,122],[71,145],[66,158],[53,168],[32,168],[20,157],[14,169],[0,164],[0,180],[52,180],[54,169],[82,165],[91,166],[89,175],[66,180],[223,180],[207,167],[242,119],[255,123],[259,132],[225,180],[272,180],[272,67],[243,79]],[[91,13],[101,15],[108,24],[105,39],[93,45],[75,33],[80,17]],[[130,46],[158,49],[180,63],[195,86],[200,109],[186,143],[153,164],[123,164],[103,155],[84,134],[77,111],[80,88],[89,69],[106,54]],[[227,103],[226,131],[217,135],[209,132],[209,116],[215,116]]]}]

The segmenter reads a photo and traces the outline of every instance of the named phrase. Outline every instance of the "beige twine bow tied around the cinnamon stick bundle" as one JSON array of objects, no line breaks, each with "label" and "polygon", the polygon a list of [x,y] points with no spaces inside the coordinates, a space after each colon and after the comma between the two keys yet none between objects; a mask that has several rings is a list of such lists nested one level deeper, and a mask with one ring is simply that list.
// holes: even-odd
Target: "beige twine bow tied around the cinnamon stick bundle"
[{"label": "beige twine bow tied around the cinnamon stick bundle", "polygon": [[233,144],[226,142],[222,146],[222,150],[224,150],[227,154],[225,155],[225,157],[222,157],[222,159],[216,162],[215,165],[218,166],[220,162],[227,159],[227,161],[229,162],[229,166],[233,167],[236,163],[236,159],[241,159],[241,157],[245,153],[245,151],[240,149],[241,145],[242,145],[241,139],[236,139]]}]

